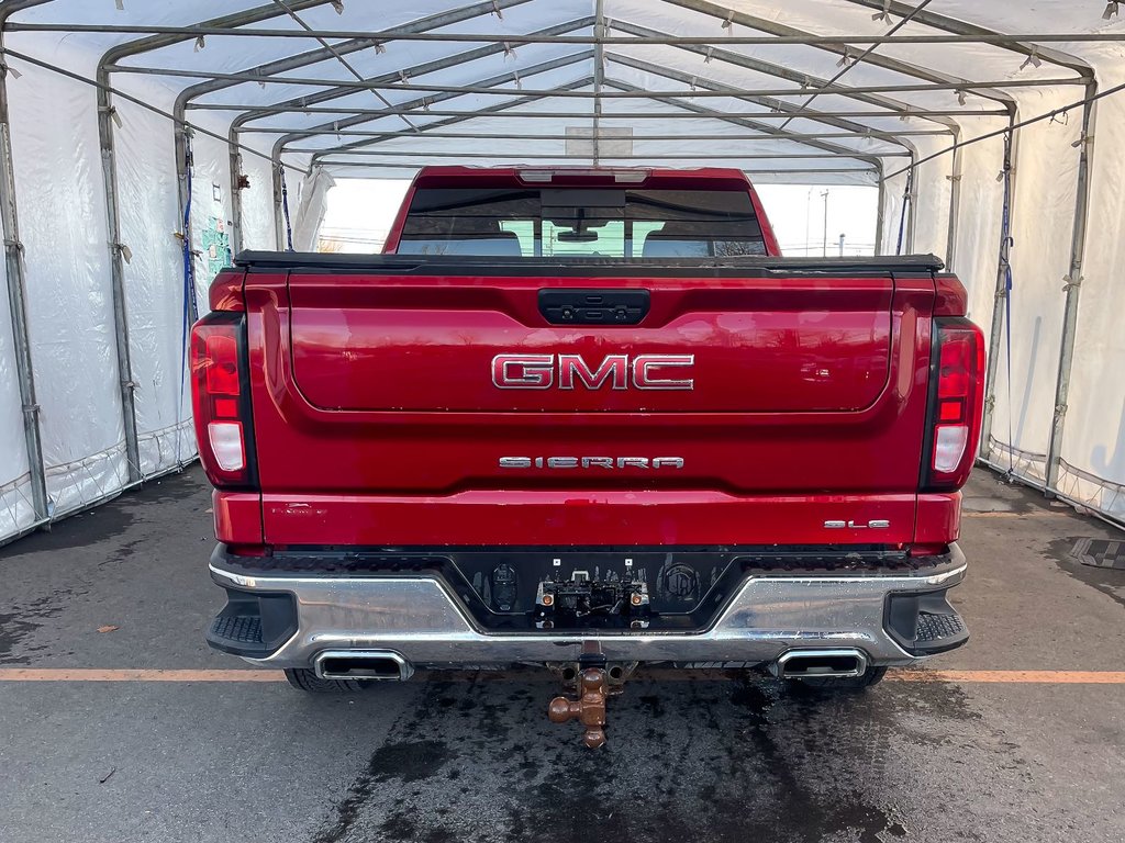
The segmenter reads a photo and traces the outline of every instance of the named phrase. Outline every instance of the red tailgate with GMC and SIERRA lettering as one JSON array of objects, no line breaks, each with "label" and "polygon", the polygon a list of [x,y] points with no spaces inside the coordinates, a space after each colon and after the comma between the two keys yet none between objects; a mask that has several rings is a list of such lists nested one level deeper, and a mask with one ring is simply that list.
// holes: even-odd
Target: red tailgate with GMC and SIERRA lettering
[{"label": "red tailgate with GMC and SIERRA lettering", "polygon": [[[694,536],[669,522],[672,508],[644,509],[667,493],[712,525],[750,510],[710,504],[758,501],[764,534],[778,501],[818,525],[893,513],[885,538],[909,541],[932,274],[642,272],[251,272],[268,538],[316,535],[298,525],[339,505],[350,525],[339,541],[381,523],[385,541],[407,543],[415,534],[395,531],[403,514],[376,501],[410,499],[471,499],[457,510],[470,522],[500,517],[496,504],[533,504],[525,517],[547,526],[524,534],[544,543],[562,531],[548,528],[556,522],[587,544],[621,524],[603,514],[575,535],[568,501],[631,502],[662,542]],[[648,292],[634,325],[552,324],[540,307],[543,290],[612,300],[622,289]],[[410,511],[423,525],[449,517]]]}]

